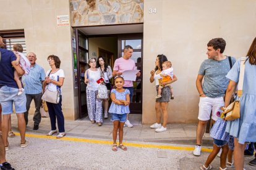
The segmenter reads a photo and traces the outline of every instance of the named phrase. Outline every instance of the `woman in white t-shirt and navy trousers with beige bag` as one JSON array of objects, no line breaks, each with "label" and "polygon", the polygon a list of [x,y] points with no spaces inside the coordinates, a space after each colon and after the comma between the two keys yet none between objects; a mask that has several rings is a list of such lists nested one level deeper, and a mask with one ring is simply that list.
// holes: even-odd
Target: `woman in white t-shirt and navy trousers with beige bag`
[{"label": "woman in white t-shirt and navy trousers with beige bag", "polygon": [[43,100],[46,100],[46,104],[49,111],[49,118],[51,121],[51,131],[47,134],[48,136],[52,136],[57,133],[56,128],[56,118],[58,123],[59,134],[57,138],[62,138],[66,136],[65,128],[64,128],[64,116],[62,113],[62,89],[61,86],[64,83],[64,71],[60,69],[61,60],[56,55],[49,55],[47,58],[51,70],[46,72],[46,78],[43,84],[43,89],[45,92],[42,96]]}]

